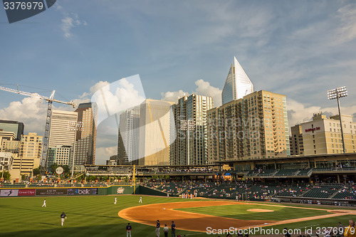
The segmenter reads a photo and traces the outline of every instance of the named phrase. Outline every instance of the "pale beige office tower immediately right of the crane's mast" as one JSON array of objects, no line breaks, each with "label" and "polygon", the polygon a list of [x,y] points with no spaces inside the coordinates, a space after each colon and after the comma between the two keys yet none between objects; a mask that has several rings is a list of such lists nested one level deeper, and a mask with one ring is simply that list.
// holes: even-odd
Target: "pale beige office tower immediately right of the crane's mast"
[{"label": "pale beige office tower immediately right of the crane's mast", "polygon": [[78,112],[52,110],[47,167],[72,164],[77,119]]}]

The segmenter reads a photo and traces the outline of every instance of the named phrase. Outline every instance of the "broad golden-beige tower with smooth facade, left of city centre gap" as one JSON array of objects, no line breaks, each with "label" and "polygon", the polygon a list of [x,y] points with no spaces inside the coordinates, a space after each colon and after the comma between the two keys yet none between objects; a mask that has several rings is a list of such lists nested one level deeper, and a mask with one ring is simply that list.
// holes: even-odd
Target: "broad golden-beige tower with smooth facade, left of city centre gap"
[{"label": "broad golden-beige tower with smooth facade, left of city centre gap", "polygon": [[140,105],[138,165],[169,165],[169,144],[172,141],[174,102],[147,99]]}]

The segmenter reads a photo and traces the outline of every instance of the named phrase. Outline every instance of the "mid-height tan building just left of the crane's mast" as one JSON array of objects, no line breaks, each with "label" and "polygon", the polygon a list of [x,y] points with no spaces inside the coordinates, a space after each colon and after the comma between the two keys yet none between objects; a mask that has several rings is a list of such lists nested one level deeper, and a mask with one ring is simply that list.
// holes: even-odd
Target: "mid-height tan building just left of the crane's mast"
[{"label": "mid-height tan building just left of the crane's mast", "polygon": [[36,132],[28,132],[28,135],[22,135],[19,156],[14,158],[12,169],[18,169],[21,175],[32,177],[33,169],[40,165],[42,138]]}]

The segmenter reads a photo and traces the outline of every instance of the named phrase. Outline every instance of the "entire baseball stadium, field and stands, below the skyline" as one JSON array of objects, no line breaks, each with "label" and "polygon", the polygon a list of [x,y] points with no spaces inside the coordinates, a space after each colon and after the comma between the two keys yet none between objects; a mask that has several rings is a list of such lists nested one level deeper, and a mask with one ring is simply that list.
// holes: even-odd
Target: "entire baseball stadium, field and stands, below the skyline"
[{"label": "entire baseball stadium, field and stands, below the skyline", "polygon": [[[71,183],[3,183],[0,236],[127,236],[128,223],[132,236],[154,236],[157,220],[160,236],[165,225],[167,236],[173,236],[172,223],[174,236],[285,236],[286,231],[290,236],[343,236],[356,218],[356,168],[337,164],[353,164],[355,158],[333,154],[190,167],[88,165]],[[250,170],[240,169],[248,165]]]}]

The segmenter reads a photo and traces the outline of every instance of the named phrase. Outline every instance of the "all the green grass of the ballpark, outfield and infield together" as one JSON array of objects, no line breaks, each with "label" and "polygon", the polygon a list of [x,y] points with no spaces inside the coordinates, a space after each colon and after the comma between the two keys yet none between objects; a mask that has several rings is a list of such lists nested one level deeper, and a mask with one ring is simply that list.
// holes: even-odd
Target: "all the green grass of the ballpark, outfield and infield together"
[{"label": "all the green grass of the ballpark, outfield and infield together", "polygon": [[[47,196],[47,206],[46,208],[41,208],[43,199],[44,197],[1,198],[0,236],[126,236],[125,226],[127,225],[127,221],[117,216],[117,212],[130,206],[139,205],[139,196],[137,195],[117,196],[116,205],[113,204],[114,196]],[[202,199],[167,199],[165,197],[143,196],[143,204],[140,205],[176,201],[202,201]],[[321,206],[316,205],[313,205],[312,207],[322,208]],[[246,214],[246,209],[254,208],[273,209],[275,212],[258,214],[248,212],[248,215]],[[329,208],[331,208],[331,206]],[[61,227],[60,218],[62,211],[68,216],[63,227]],[[230,218],[244,218],[246,220],[281,220],[286,218],[326,214],[325,211],[301,211],[300,209],[289,210],[286,207],[278,205],[260,206],[255,204],[246,206],[213,206],[184,209],[184,211],[226,216]],[[325,218],[316,221],[306,221],[305,223],[300,222],[284,226],[273,226],[273,228],[305,228],[305,226],[313,226],[313,228],[316,228],[317,226],[337,226],[338,221],[346,224],[349,218],[356,218],[356,216]],[[152,220],[152,223],[155,223],[155,220]],[[132,237],[155,236],[154,226],[146,226],[139,223],[131,223],[131,225]],[[180,231],[178,224],[177,228],[176,234],[178,233],[181,236],[223,236]],[[161,235],[163,236],[163,233],[161,233]]]}]

